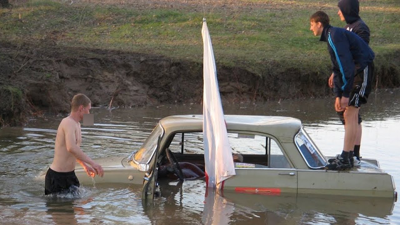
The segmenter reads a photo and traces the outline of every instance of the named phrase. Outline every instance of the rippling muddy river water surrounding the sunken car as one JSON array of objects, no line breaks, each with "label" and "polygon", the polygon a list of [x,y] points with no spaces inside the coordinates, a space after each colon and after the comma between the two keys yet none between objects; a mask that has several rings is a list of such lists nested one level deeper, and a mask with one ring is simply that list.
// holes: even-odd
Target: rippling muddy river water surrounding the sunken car
[{"label": "rippling muddy river water surrounding the sunken car", "polygon": [[[342,150],[344,129],[332,106],[332,98],[282,100],[224,105],[224,112],[301,119],[322,153],[333,156]],[[128,156],[159,119],[201,114],[202,106],[93,108],[91,113],[95,124],[82,126],[82,149],[98,158]],[[378,159],[400,187],[400,89],[372,94],[362,116],[362,157]],[[39,176],[52,161],[56,129],[63,117],[45,115],[31,119],[26,127],[0,130],[0,224],[400,224],[398,202],[213,192],[206,196],[202,180],[161,183],[162,197],[153,203],[142,202],[140,186],[95,183],[80,187],[80,198],[48,198]]]}]

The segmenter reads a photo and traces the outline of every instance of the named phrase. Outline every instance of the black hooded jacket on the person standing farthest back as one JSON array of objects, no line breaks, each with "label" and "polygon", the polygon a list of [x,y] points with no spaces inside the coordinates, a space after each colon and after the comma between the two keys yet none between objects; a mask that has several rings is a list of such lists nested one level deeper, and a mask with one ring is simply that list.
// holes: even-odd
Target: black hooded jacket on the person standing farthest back
[{"label": "black hooded jacket on the person standing farthest back", "polygon": [[358,13],[360,4],[358,0],[340,0],[338,7],[346,20],[344,29],[356,33],[367,44],[370,43],[370,28],[362,21]]}]

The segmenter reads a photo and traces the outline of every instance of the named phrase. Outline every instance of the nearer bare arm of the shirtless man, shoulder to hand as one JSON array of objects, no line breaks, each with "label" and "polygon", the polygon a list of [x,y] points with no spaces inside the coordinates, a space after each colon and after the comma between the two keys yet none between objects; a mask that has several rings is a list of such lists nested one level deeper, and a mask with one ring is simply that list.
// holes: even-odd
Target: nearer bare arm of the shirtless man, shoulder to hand
[{"label": "nearer bare arm of the shirtless man, shoulder to hand", "polygon": [[[76,137],[75,137],[75,125],[73,122],[67,121],[64,126],[65,133],[65,144],[67,151],[70,152],[75,158],[83,163],[87,163],[93,167],[100,177],[103,176],[103,169],[100,165],[95,163],[90,157],[88,157],[79,147],[76,145]],[[78,162],[79,162],[78,161]],[[83,166],[83,165],[82,165]]]}]

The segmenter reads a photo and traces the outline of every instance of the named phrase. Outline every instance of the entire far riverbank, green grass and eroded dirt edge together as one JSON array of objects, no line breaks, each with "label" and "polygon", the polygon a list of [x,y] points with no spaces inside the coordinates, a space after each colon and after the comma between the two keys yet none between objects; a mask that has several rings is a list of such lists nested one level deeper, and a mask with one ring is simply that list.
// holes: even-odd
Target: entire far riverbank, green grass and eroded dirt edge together
[{"label": "entire far riverbank, green grass and eroded dirt edge together", "polygon": [[[202,101],[202,18],[208,18],[224,103],[332,96],[326,45],[308,17],[332,1],[21,0],[0,8],[0,127],[93,106]],[[396,2],[362,2],[376,53],[373,89],[400,85]]]}]

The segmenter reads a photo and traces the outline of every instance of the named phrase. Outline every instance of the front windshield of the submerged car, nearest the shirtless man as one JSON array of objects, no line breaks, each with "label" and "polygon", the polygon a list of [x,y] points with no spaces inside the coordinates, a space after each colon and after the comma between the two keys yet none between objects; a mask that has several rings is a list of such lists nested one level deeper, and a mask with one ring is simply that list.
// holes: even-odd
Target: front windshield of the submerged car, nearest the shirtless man
[{"label": "front windshield of the submerged car, nearest the shirtless man", "polygon": [[149,163],[151,157],[156,151],[158,137],[163,134],[163,129],[160,124],[158,124],[134,155],[134,161],[136,163]]}]

